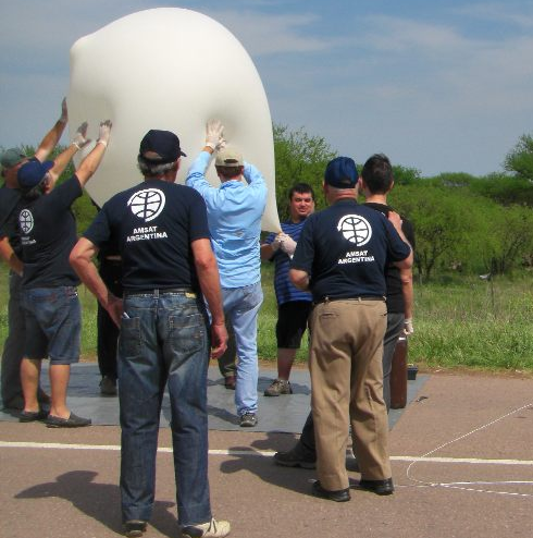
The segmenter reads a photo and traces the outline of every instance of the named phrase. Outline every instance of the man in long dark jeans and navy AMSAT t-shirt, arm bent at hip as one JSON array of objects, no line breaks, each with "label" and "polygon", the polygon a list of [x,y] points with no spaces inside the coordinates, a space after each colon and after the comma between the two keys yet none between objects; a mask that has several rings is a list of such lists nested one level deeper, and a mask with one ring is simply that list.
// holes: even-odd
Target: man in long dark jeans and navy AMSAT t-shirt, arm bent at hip
[{"label": "man in long dark jeans and navy AMSAT t-shirt, arm bent at hip", "polygon": [[[108,200],[71,253],[76,272],[121,328],[121,499],[126,536],[141,536],[152,514],[165,386],[182,536],[230,533],[230,523],[211,515],[207,414],[210,343],[218,358],[227,333],[206,204],[193,188],[174,183],[182,156],[174,133],[149,131],[137,158],[145,180]],[[111,293],[91,261],[110,242],[122,258],[123,298]]]}]

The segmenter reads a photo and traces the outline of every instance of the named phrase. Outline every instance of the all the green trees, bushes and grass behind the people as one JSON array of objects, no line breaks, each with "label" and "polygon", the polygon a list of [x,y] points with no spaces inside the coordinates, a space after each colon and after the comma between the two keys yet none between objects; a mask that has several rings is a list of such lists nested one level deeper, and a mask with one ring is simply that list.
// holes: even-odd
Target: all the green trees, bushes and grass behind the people
[{"label": "all the green trees, bushes and grass behind the people", "polygon": [[[274,125],[276,198],[287,216],[287,192],[310,183],[317,209],[325,206],[322,173],[337,154],[324,138]],[[24,148],[30,154],[32,147]],[[380,148],[376,148],[377,150]],[[59,148],[61,150],[61,148]],[[352,156],[361,166],[369,156]],[[72,168],[64,176],[72,173]],[[391,204],[414,225],[414,335],[409,362],[432,369],[468,368],[533,375],[533,138],[522,135],[503,156],[503,171],[486,176],[442,173],[423,178],[395,166]],[[96,213],[84,194],[74,206],[78,230]],[[264,303],[259,355],[275,362],[273,267],[262,265]],[[83,357],[96,355],[96,302],[79,289]],[[8,271],[0,266],[0,341],[7,335]],[[307,357],[307,342],[297,355]]]}]

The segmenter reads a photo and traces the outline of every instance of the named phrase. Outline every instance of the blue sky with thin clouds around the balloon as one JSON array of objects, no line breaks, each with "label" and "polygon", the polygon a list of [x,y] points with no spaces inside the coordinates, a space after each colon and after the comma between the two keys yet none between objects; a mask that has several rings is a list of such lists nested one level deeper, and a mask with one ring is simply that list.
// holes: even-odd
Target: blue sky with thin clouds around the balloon
[{"label": "blue sky with thin clouds around the balloon", "polygon": [[[37,144],[69,89],[79,37],[144,9],[226,26],[272,119],[362,162],[383,151],[424,175],[501,171],[533,133],[531,0],[0,0],[0,146]],[[213,61],[216,61],[213,51]],[[64,142],[64,140],[63,140]]]}]

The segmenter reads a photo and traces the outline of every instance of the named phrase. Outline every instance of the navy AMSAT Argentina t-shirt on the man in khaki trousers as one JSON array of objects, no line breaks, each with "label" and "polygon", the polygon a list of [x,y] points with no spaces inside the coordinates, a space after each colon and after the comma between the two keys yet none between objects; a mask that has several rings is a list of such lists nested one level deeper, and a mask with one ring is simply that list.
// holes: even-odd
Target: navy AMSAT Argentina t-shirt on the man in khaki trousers
[{"label": "navy AMSAT Argentina t-shirt on the man in khaki trousers", "polygon": [[346,199],[307,218],[290,267],[309,273],[313,301],[384,296],[387,260],[409,253],[381,212]]}]

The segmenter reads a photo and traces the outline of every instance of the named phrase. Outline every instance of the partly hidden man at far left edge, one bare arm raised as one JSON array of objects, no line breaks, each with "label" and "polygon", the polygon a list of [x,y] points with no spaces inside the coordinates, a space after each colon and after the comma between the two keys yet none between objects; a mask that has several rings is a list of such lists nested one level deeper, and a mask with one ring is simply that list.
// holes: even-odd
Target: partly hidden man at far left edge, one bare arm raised
[{"label": "partly hidden man at far left edge, one bare arm raised", "polygon": [[[69,113],[66,100],[61,103],[61,117],[40,142],[33,159],[44,162],[60,140]],[[1,391],[2,403],[9,409],[21,411],[24,407],[24,396],[21,386],[21,360],[24,352],[25,326],[21,308],[21,265],[18,260],[20,242],[16,236],[12,213],[20,200],[16,172],[29,160],[18,148],[10,148],[0,155],[1,175],[4,186],[0,188],[0,256],[10,265],[9,303],[8,303],[8,338],[3,344]],[[49,404],[50,398],[39,389],[39,402]]]}]

